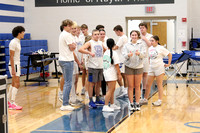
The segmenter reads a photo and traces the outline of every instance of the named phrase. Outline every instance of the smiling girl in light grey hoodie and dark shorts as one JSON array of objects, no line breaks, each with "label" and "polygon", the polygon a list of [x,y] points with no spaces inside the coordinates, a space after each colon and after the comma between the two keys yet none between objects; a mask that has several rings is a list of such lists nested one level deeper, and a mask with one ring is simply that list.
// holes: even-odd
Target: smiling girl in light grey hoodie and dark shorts
[{"label": "smiling girl in light grey hoodie and dark shorts", "polygon": [[[125,44],[123,55],[125,57],[125,74],[128,81],[128,97],[130,101],[129,109],[131,111],[140,110],[140,84],[143,74],[143,59],[146,54],[146,47],[140,39],[140,32],[133,30],[130,33],[131,42]],[[133,103],[133,88],[135,88],[135,99]]]}]

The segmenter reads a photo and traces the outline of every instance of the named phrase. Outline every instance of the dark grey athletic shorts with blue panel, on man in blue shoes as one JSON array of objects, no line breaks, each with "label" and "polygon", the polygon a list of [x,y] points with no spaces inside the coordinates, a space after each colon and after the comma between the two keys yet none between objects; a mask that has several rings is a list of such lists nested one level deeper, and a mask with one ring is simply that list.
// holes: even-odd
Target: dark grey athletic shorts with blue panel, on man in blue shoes
[{"label": "dark grey athletic shorts with blue panel, on man in blue shoes", "polygon": [[88,68],[88,81],[99,82],[103,80],[103,69]]}]

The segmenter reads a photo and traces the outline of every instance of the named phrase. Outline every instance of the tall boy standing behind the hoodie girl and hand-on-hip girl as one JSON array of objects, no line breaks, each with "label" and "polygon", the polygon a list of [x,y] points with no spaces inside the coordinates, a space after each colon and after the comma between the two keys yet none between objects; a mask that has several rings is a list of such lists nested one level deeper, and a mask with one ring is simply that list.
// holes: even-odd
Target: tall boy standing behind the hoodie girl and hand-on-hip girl
[{"label": "tall boy standing behind the hoodie girl and hand-on-hip girl", "polygon": [[140,23],[139,24],[140,32],[141,32],[141,39],[146,45],[146,55],[144,58],[144,67],[143,67],[143,77],[142,77],[142,87],[143,87],[143,95],[145,94],[146,84],[147,84],[147,75],[149,71],[149,57],[148,57],[148,49],[151,46],[150,38],[153,36],[152,34],[147,33],[147,24]]}]

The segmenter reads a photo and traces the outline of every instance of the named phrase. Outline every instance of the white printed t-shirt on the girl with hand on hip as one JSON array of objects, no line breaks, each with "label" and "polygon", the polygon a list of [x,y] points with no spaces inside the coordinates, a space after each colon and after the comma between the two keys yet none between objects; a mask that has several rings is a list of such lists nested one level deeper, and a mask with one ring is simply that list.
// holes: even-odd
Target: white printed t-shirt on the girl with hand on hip
[{"label": "white printed t-shirt on the girl with hand on hip", "polygon": [[163,46],[157,45],[149,48],[150,67],[153,69],[164,66],[163,58],[169,54],[169,51]]}]

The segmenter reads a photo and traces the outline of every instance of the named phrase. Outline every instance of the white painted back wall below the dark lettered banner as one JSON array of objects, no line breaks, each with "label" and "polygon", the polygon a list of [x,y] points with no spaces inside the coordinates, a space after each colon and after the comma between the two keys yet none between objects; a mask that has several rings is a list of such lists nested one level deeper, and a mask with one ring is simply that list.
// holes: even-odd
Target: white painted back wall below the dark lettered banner
[{"label": "white painted back wall below the dark lettered banner", "polygon": [[58,51],[59,26],[66,18],[76,21],[79,25],[86,23],[90,32],[96,25],[103,24],[107,36],[117,40],[118,37],[113,32],[114,26],[120,24],[126,30],[125,17],[145,16],[176,16],[176,36],[179,32],[183,32],[184,35],[176,38],[176,51],[186,49],[182,47],[181,41],[188,38],[188,25],[181,19],[187,18],[187,0],[175,0],[174,4],[152,5],[156,8],[154,14],[145,13],[144,9],[147,5],[35,7],[35,0],[24,1],[24,4],[27,31],[31,33],[32,39],[47,39],[49,50],[52,52]]}]

